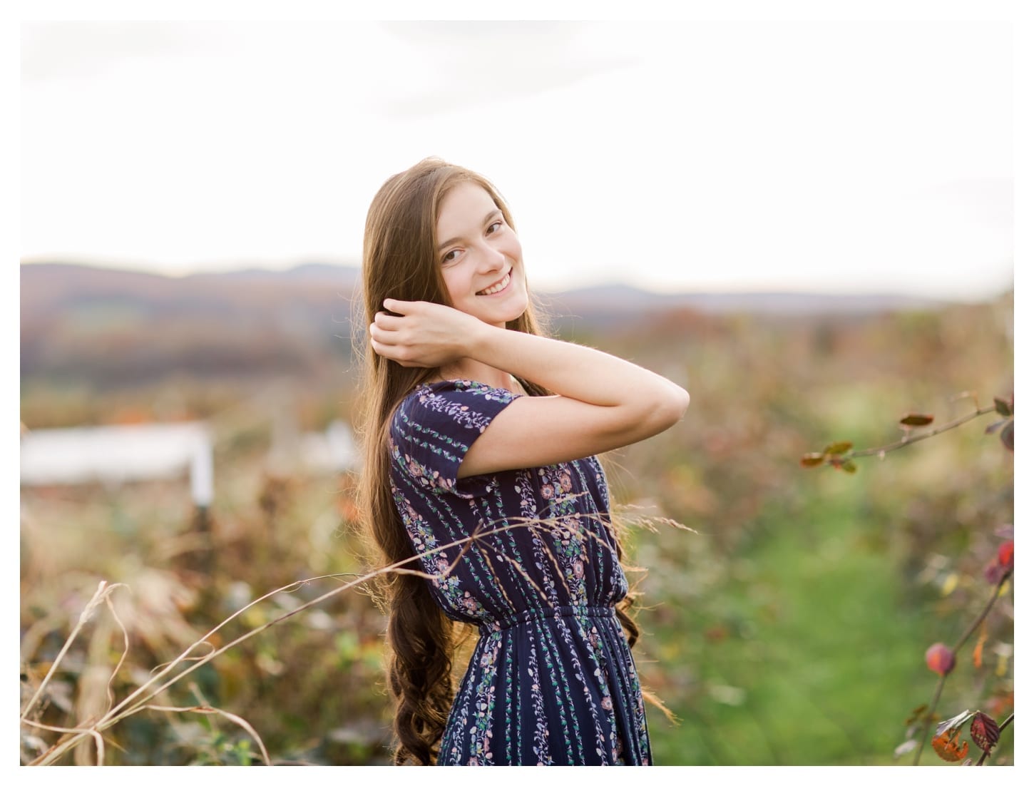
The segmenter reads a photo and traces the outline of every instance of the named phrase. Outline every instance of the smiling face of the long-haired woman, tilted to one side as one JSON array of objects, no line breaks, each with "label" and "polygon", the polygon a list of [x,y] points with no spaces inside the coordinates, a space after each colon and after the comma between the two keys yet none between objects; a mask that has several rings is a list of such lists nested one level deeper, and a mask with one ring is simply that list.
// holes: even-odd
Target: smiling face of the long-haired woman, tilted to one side
[{"label": "smiling face of the long-haired woman, tilted to one side", "polygon": [[505,327],[527,308],[520,242],[480,185],[463,181],[442,199],[437,261],[455,308]]}]

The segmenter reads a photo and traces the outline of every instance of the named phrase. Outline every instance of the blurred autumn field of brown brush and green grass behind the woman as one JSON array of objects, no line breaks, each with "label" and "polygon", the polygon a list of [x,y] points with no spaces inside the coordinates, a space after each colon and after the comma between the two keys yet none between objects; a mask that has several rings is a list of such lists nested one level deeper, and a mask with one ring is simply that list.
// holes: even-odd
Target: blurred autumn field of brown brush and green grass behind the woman
[{"label": "blurred autumn field of brown brush and green grass behind the woman", "polygon": [[[630,533],[631,557],[644,569],[631,576],[643,595],[634,654],[643,682],[680,719],[672,725],[650,711],[657,763],[911,761],[893,752],[936,684],[923,653],[950,645],[986,601],[984,567],[1003,542],[996,533],[1012,523],[1011,453],[983,433],[992,416],[882,461],[861,459],[853,476],[803,470],[798,459],[834,440],[892,443],[909,411],[950,420],[973,407],[951,400],[965,391],[981,404],[1007,397],[1011,324],[1008,296],[854,316],[681,308],[619,327],[564,328],[564,337],[653,368],[693,395],[675,428],[607,457],[626,519],[670,517],[695,531]],[[346,350],[312,352],[287,375],[269,361],[273,370],[257,379],[240,369],[107,386],[23,376],[29,429],[205,419],[216,437],[207,522],[191,510],[185,480],[23,487],[23,694],[43,678],[100,580],[126,584],[112,596],[129,644],[111,685],[118,701],[249,601],[301,579],[362,572],[348,526],[354,477],[303,473],[282,450],[292,429],[351,418]],[[323,372],[306,375],[309,367]],[[277,595],[213,643],[342,580]],[[363,592],[338,594],[220,655],[160,703],[206,703],[245,719],[274,761],[388,763],[383,628]],[[945,717],[1011,712],[1011,590],[981,635],[981,665],[974,636],[947,682]],[[123,647],[101,608],[33,718],[66,727],[102,714]],[[23,761],[57,738],[23,727]],[[257,751],[225,718],[157,711],[114,726],[105,748],[107,762],[120,764],[249,763]],[[61,761],[92,760],[87,743]],[[991,761],[1011,763],[1011,729]],[[944,763],[929,745],[922,762]]]}]

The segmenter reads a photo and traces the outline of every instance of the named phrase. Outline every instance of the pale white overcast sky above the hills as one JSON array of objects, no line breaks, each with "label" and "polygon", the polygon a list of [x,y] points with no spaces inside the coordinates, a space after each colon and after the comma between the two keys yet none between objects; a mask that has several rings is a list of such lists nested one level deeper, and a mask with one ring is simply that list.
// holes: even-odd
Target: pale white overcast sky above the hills
[{"label": "pale white overcast sky above the hills", "polygon": [[438,155],[533,286],[989,297],[1012,280],[1004,23],[22,26],[21,255],[358,264]]}]

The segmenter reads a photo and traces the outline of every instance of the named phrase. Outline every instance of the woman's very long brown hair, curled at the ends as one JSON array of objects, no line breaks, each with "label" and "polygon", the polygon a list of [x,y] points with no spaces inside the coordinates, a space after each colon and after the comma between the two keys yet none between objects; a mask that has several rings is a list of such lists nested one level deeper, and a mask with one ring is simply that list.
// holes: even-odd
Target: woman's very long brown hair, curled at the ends
[{"label": "woman's very long brown hair, curled at the ends", "polygon": [[[363,304],[365,323],[384,310],[385,298],[423,300],[452,305],[436,260],[435,228],[442,200],[458,183],[474,182],[484,188],[507,223],[510,210],[495,187],[475,172],[425,158],[390,177],[377,191],[366,216],[363,237]],[[542,335],[536,309],[528,308],[507,324],[510,330]],[[357,332],[358,335],[358,332]],[[363,428],[365,464],[360,483],[360,508],[366,533],[383,552],[385,565],[414,556],[413,545],[392,498],[389,475],[388,430],[395,409],[421,383],[435,375],[433,368],[406,368],[382,358],[362,335],[365,360]],[[359,347],[357,347],[358,350]],[[521,380],[531,395],[549,391]],[[620,557],[620,549],[618,549]],[[406,567],[419,568],[418,565]],[[395,763],[409,758],[431,764],[445,731],[453,701],[452,661],[456,649],[455,624],[431,596],[419,576],[387,573],[377,586],[378,602],[388,615],[388,686],[396,701]],[[631,643],[638,638],[635,623],[618,611]]]}]

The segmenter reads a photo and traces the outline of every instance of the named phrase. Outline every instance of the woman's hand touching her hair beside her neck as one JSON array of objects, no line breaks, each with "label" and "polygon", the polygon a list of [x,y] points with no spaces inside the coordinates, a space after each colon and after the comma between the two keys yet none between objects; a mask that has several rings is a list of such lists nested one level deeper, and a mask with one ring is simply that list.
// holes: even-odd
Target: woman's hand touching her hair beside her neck
[{"label": "woman's hand touching her hair beside her neck", "polygon": [[438,368],[466,357],[484,323],[450,306],[422,300],[386,300],[370,324],[373,352],[401,366]]}]

